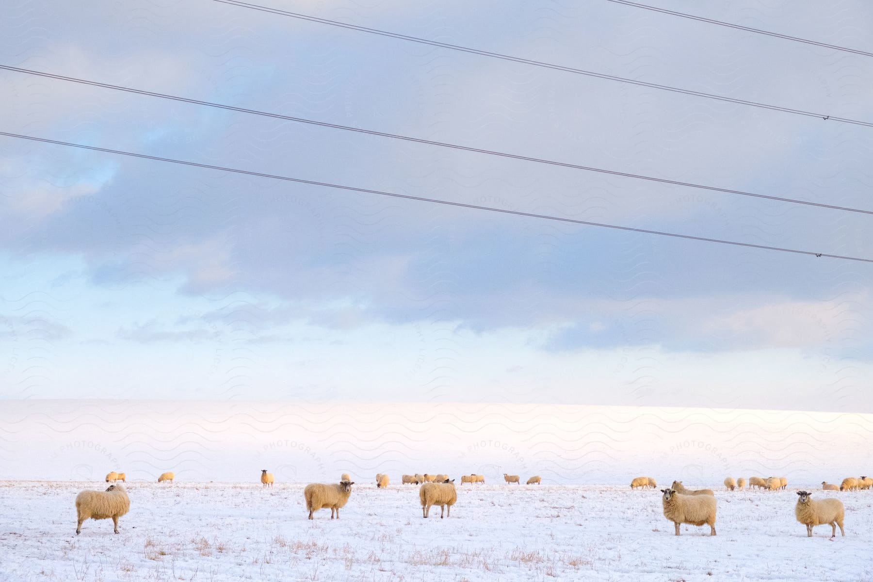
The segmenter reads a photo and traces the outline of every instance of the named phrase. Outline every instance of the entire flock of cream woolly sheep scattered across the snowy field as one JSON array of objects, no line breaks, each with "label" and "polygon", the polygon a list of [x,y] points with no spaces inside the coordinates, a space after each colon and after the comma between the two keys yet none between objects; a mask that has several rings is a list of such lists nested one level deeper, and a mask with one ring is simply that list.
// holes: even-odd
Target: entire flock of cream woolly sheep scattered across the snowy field
[{"label": "entire flock of cream woolly sheep scattered across the snowy field", "polygon": [[[171,472],[163,473],[158,477],[158,483],[169,482],[173,483],[175,475]],[[505,483],[521,482],[518,475],[503,474]],[[125,515],[130,510],[130,498],[127,496],[127,491],[117,482],[127,483],[124,473],[115,471],[109,473],[106,477],[107,483],[115,483],[110,485],[105,491],[85,490],[76,496],[76,513],[78,524],[76,525],[76,533],[82,529],[82,523],[86,519],[112,519],[115,533],[118,531],[119,517]],[[385,489],[390,483],[387,475],[379,473],[376,475],[376,487]],[[527,484],[540,484],[542,479],[540,476],[532,476],[527,480]],[[275,483],[275,478],[267,469],[261,469],[261,484],[263,487],[272,487]],[[449,517],[451,506],[457,502],[457,490],[455,490],[455,480],[450,479],[448,475],[404,475],[401,483],[415,484],[421,487],[418,490],[419,501],[422,505],[422,517],[430,516],[430,508],[434,505],[439,505],[440,517]],[[461,476],[461,483],[485,483],[485,476],[471,474]],[[725,489],[727,490],[743,490],[746,488],[746,479],[739,477],[734,480],[733,477],[725,478]],[[766,490],[784,490],[787,487],[787,479],[785,477],[749,477],[748,488],[757,487]],[[340,483],[310,483],[303,490],[303,497],[306,501],[306,510],[309,511],[309,519],[313,519],[313,513],[322,509],[330,509],[330,517],[333,519],[340,518],[340,509],[345,507],[349,496],[352,495],[352,485],[354,481],[347,473],[340,476]],[[630,482],[630,488],[656,488],[657,483],[652,477],[636,477]],[[841,490],[841,491],[856,491],[870,490],[873,487],[873,478],[862,477],[847,477],[842,480],[839,487],[835,484],[827,482],[821,483],[822,490]],[[681,524],[691,525],[709,525],[711,529],[710,535],[715,533],[716,520],[716,499],[715,492],[711,489],[689,490],[684,487],[681,481],[674,481],[669,489],[661,490],[663,493],[663,515],[676,526],[676,535],[679,535],[679,527]],[[809,491],[798,491],[798,500],[794,507],[794,516],[797,521],[807,526],[807,536],[812,537],[813,528],[816,525],[828,524],[832,528],[831,537],[836,536],[836,527],[840,527],[840,533],[845,536],[843,530],[843,518],[845,517],[845,508],[842,501],[839,499],[829,498],[821,500],[813,500],[812,493]]]}]

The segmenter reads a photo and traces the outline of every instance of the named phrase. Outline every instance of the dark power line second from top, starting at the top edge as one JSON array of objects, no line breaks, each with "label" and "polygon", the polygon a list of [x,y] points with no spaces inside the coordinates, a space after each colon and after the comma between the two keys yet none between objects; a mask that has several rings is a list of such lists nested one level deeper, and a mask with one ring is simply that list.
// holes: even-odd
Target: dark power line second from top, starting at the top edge
[{"label": "dark power line second from top, starting at the top edge", "polygon": [[501,58],[503,60],[512,61],[513,63],[523,63],[525,65],[534,65],[544,67],[546,69],[554,69],[555,71],[563,71],[563,72],[574,72],[579,75],[586,75],[588,77],[595,77],[597,79],[607,79],[610,81],[617,81],[620,83],[629,83],[630,85],[649,87],[651,89],[660,89],[662,91],[670,91],[682,93],[684,95],[693,95],[695,97],[703,97],[705,99],[716,99],[718,101],[725,101],[727,103],[735,103],[737,105],[745,105],[751,107],[759,107],[761,109],[770,109],[772,111],[780,111],[782,113],[794,113],[795,115],[805,115],[807,117],[818,117],[822,120],[830,120],[830,121],[842,121],[842,123],[850,123],[856,126],[864,126],[864,127],[873,127],[873,122],[863,121],[863,120],[852,120],[845,117],[835,117],[834,115],[828,115],[828,113],[815,113],[811,111],[805,111],[803,109],[793,109],[791,107],[783,107],[778,105],[769,105],[767,103],[760,103],[758,101],[750,101],[747,99],[735,99],[733,97],[727,97],[725,95],[717,95],[714,93],[707,93],[702,91],[694,91],[692,89],[683,89],[682,87],[674,87],[669,85],[658,85],[657,83],[647,83],[645,81],[639,81],[636,79],[627,79],[625,77],[616,77],[615,75],[608,75],[603,72],[594,72],[594,71],[585,71],[583,69],[575,69],[574,67],[564,66],[564,65],[554,65],[553,63],[545,63],[542,61],[533,60],[531,58],[521,58],[521,57],[512,57],[511,55],[505,55],[499,52],[491,52],[491,51],[481,51],[479,49],[473,49],[468,46],[461,45],[450,45],[449,43],[441,43],[436,40],[430,40],[428,38],[418,38],[418,37],[410,37],[405,34],[400,34],[397,32],[390,31],[381,31],[375,28],[367,28],[366,26],[358,26],[357,24],[346,24],[337,22],[335,20],[327,20],[327,18],[319,18],[313,17],[306,14],[300,14],[299,12],[289,12],[288,10],[279,10],[278,8],[270,8],[268,6],[261,6],[259,4],[251,4],[246,2],[240,2],[239,0],[212,0],[213,2],[230,4],[232,6],[238,6],[240,8],[248,8],[250,10],[260,10],[262,12],[269,12],[271,14],[276,14],[278,16],[284,17],[292,17],[299,18],[300,20],[308,20],[310,22],[315,22],[319,24],[330,24],[331,26],[340,26],[341,28],[347,28],[352,31],[359,32],[368,32],[369,34],[377,34],[382,37],[389,38],[398,38],[400,40],[407,40],[412,43],[419,43],[422,45],[431,45],[438,46],[443,49],[450,49],[452,51],[462,51],[462,52],[470,52],[472,54],[482,55],[483,57],[491,57],[491,58]]}]

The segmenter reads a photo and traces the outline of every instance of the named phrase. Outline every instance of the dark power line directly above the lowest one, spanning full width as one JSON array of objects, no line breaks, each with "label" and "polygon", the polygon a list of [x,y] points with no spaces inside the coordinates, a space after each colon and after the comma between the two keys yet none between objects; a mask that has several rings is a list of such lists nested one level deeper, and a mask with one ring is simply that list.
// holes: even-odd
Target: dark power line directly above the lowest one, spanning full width
[{"label": "dark power line directly above the lowest one, spanning full width", "polygon": [[631,174],[629,172],[620,172],[617,170],[610,170],[606,168],[595,168],[592,166],[582,166],[580,164],[573,164],[565,161],[554,161],[554,160],[546,160],[544,158],[535,158],[527,155],[519,155],[519,154],[508,154],[506,152],[498,152],[496,150],[485,149],[482,147],[470,147],[470,146],[461,146],[454,143],[448,143],[445,141],[435,141],[435,140],[424,140],[423,138],[410,137],[408,135],[400,135],[400,134],[388,134],[387,132],[375,131],[372,129],[364,129],[362,127],[351,127],[351,126],[342,126],[336,123],[328,123],[327,121],[318,121],[318,120],[310,120],[303,117],[293,117],[291,115],[283,115],[281,113],[270,113],[265,111],[258,111],[257,109],[247,109],[245,107],[237,107],[230,105],[223,105],[221,103],[214,103],[211,101],[203,101],[200,99],[189,99],[187,97],[179,97],[177,95],[169,95],[168,93],[160,93],[153,91],[145,91],[142,89],[135,89],[133,87],[128,86],[119,86],[119,85],[109,85],[108,83],[100,83],[99,81],[92,81],[89,79],[78,79],[75,77],[65,77],[64,75],[56,75],[50,72],[40,72],[33,71],[31,69],[23,69],[15,66],[9,65],[0,65],[0,69],[4,69],[6,71],[12,72],[23,72],[26,74],[37,75],[39,77],[45,77],[47,79],[58,79],[63,81],[69,81],[72,83],[79,83],[87,86],[95,86],[101,87],[104,89],[113,89],[114,91],[122,91],[122,92],[130,92],[137,95],[146,95],[148,97],[157,97],[160,99],[169,99],[173,101],[179,101],[182,103],[189,103],[192,105],[199,106],[208,106],[215,107],[217,109],[225,109],[227,111],[233,111],[237,113],[250,113],[252,115],[260,115],[263,117],[270,117],[278,120],[286,120],[286,121],[294,121],[297,123],[306,123],[313,126],[319,127],[331,127],[333,129],[340,129],[343,131],[356,132],[359,134],[369,134],[376,135],[380,137],[393,138],[395,140],[404,140],[404,141],[412,141],[415,143],[420,143],[429,146],[438,146],[438,147],[448,147],[450,149],[457,149],[464,152],[474,152],[477,154],[487,154],[487,155],[495,155],[502,158],[509,158],[512,160],[520,160],[520,161],[533,161],[535,163],[547,164],[550,166],[558,166],[560,168],[571,168],[577,170],[585,170],[588,172],[596,172],[599,174],[608,174],[621,176],[623,178],[634,178],[636,180],[646,180],[646,181],[656,181],[663,184],[670,184],[672,186],[684,186],[686,188],[698,188],[703,190],[710,190],[712,192],[720,192],[723,194],[734,194],[734,195],[743,195],[743,196],[751,196],[753,198],[763,198],[766,200],[773,200],[777,202],[791,202],[794,204],[804,204],[806,206],[815,206],[824,209],[834,209],[834,210],[844,210],[847,212],[857,212],[861,214],[873,215],[873,210],[865,210],[865,209],[856,209],[846,206],[836,206],[835,204],[826,204],[824,202],[810,202],[806,200],[798,200],[795,198],[785,198],[782,196],[773,196],[766,194],[757,194],[754,192],[746,192],[744,190],[733,190],[731,188],[719,188],[718,186],[707,186],[705,184],[696,184],[688,181],[677,181],[677,180],[668,180],[666,178],[656,178],[655,176],[650,175],[641,175],[641,174]]}]

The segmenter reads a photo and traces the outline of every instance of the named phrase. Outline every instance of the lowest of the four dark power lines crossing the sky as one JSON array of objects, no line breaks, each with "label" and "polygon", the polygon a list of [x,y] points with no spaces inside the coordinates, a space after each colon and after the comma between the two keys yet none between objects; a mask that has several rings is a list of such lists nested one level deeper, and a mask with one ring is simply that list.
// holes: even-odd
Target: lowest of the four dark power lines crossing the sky
[{"label": "lowest of the four dark power lines crossing the sky", "polygon": [[390,196],[392,198],[402,198],[404,200],[415,200],[418,202],[430,202],[432,204],[443,204],[445,206],[454,206],[457,208],[464,209],[476,209],[476,210],[487,210],[490,212],[499,212],[502,214],[514,215],[514,216],[527,216],[530,218],[541,218],[545,220],[552,220],[560,223],[572,223],[572,224],[584,224],[586,226],[596,226],[603,229],[615,229],[615,230],[626,230],[629,232],[638,232],[647,235],[657,235],[657,236],[671,236],[673,238],[683,238],[685,240],[705,242],[705,243],[719,243],[719,244],[730,244],[738,247],[747,247],[750,249],[762,249],[762,250],[778,250],[780,252],[789,252],[797,255],[808,255],[813,257],[829,257],[829,258],[838,258],[846,261],[859,261],[862,263],[873,263],[873,258],[863,258],[863,257],[847,257],[843,255],[831,255],[828,253],[818,253],[814,250],[796,250],[796,249],[787,249],[782,247],[773,247],[767,246],[765,244],[754,244],[754,243],[739,243],[737,241],[727,241],[719,238],[709,238],[707,236],[692,236],[692,235],[683,235],[675,232],[664,232],[662,230],[651,230],[651,229],[636,229],[634,227],[629,226],[620,226],[617,224],[608,224],[608,223],[593,223],[586,220],[577,220],[575,218],[565,218],[562,216],[551,216],[551,215],[541,215],[535,214],[533,212],[521,212],[519,210],[510,210],[510,209],[499,209],[492,206],[481,206],[479,204],[468,204],[466,202],[451,202],[449,200],[440,200],[438,198],[425,198],[423,196],[413,196],[407,194],[397,194],[395,192],[385,192],[382,190],[373,190],[369,188],[356,188],[354,186],[345,186],[342,184],[332,184],[330,182],[325,181],[314,181],[314,180],[304,180],[303,178],[292,178],[291,176],[285,175],[276,175],[276,174],[266,174],[264,172],[254,172],[251,170],[244,170],[239,168],[227,168],[224,166],[214,166],[212,164],[203,164],[196,161],[187,161],[187,160],[176,160],[174,158],[164,158],[157,155],[148,155],[148,154],[137,154],[135,152],[126,152],[120,149],[109,149],[107,147],[96,147],[96,146],[87,146],[85,144],[73,143],[71,141],[59,141],[59,140],[49,140],[47,138],[35,137],[32,135],[22,135],[22,134],[11,134],[9,132],[0,132],[0,135],[5,135],[6,137],[17,138],[19,140],[31,140],[31,141],[39,141],[42,143],[51,143],[58,146],[66,146],[66,147],[79,147],[81,149],[92,150],[94,152],[103,152],[106,154],[118,154],[118,155],[127,155],[129,157],[134,158],[142,158],[144,160],[153,160],[153,161],[165,161],[173,164],[180,164],[182,166],[190,166],[193,168],[206,168],[212,170],[220,170],[223,172],[232,172],[234,174],[242,174],[242,175],[251,175],[258,176],[260,178],[270,178],[272,180],[282,180],[282,181],[292,181],[299,184],[308,184],[310,186],[321,186],[323,188],[336,188],[340,190],[347,190],[349,192],[361,192],[364,194],[375,194],[381,196]]}]

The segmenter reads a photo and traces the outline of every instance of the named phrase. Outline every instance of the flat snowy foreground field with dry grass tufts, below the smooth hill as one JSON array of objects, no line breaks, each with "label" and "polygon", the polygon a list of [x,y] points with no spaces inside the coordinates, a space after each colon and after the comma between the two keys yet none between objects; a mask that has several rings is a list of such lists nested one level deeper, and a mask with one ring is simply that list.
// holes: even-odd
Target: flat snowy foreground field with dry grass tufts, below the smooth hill
[{"label": "flat snowy foreground field with dry grass tufts, below the smooth hill", "polygon": [[105,486],[0,482],[0,579],[873,579],[873,491],[815,492],[846,505],[831,540],[794,521],[797,487],[717,491],[718,536],[675,537],[660,492],[627,486],[465,484],[425,520],[416,486],[356,484],[340,521],[307,521],[301,483],[134,482],[120,535],[89,520],[77,537],[76,493]]}]

